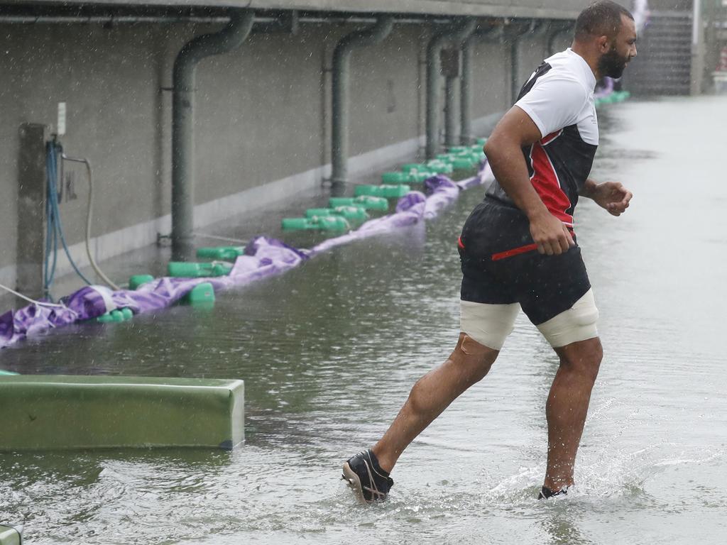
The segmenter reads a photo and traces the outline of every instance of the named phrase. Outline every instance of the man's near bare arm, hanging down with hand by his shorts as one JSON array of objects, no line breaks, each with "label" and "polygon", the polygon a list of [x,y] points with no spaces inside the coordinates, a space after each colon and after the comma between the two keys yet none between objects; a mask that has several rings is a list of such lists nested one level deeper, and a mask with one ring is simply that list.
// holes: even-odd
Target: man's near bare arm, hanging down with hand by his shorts
[{"label": "man's near bare arm, hanging down with hand by his shorts", "polygon": [[522,148],[541,139],[530,116],[513,106],[495,127],[484,152],[499,185],[530,220],[530,234],[538,251],[550,256],[568,251],[574,241],[563,222],[550,214],[530,182]]}]

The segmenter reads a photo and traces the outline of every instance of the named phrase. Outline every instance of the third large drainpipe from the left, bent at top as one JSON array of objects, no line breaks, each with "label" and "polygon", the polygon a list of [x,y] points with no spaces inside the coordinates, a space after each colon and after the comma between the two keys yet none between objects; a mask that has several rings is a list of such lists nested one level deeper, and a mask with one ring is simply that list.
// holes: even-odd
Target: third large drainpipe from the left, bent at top
[{"label": "third large drainpipe from the left, bent at top", "polygon": [[476,25],[474,19],[467,19],[454,28],[435,33],[427,44],[427,159],[433,158],[439,148],[439,52],[447,41],[462,41],[470,36]]}]

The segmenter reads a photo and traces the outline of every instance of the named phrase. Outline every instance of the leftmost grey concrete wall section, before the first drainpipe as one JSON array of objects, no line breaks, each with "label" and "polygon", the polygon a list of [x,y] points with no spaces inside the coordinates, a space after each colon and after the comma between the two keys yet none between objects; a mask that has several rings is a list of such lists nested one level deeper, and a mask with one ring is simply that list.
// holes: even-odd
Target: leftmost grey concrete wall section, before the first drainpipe
[{"label": "leftmost grey concrete wall section, before the first drainpipe", "polygon": [[[53,124],[68,103],[67,153],[87,156],[96,174],[96,233],[158,214],[158,36],[144,29],[97,26],[0,26],[0,271],[15,262],[18,127]],[[69,242],[84,230],[87,182],[62,204]],[[158,191],[156,191],[158,193]],[[67,193],[70,195],[70,193]],[[119,211],[123,211],[120,214]]]}]

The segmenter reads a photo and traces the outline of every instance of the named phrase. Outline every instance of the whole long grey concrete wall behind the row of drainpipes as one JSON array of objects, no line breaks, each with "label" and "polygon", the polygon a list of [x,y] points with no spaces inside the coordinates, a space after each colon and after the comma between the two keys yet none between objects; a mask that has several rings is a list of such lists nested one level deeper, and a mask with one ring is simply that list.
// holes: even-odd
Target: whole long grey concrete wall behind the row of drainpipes
[{"label": "whole long grey concrete wall behind the row of drainpipes", "polygon": [[[18,127],[55,125],[60,101],[68,105],[61,139],[66,153],[89,158],[95,169],[97,257],[169,233],[172,64],[182,44],[215,28],[0,23],[1,283],[15,283]],[[353,28],[303,25],[297,36],[254,33],[238,51],[198,65],[198,225],[321,184],[330,160],[332,49]],[[353,54],[353,174],[411,156],[422,143],[429,37],[425,26],[399,25],[382,44]],[[521,81],[547,56],[545,44],[545,36],[523,39]],[[477,44],[474,59],[473,117],[509,108],[509,45]],[[443,114],[440,120],[443,126]],[[85,263],[87,182],[82,169],[73,167],[70,175],[74,187],[65,193],[61,214],[74,257]],[[60,267],[68,270],[63,260]]]}]

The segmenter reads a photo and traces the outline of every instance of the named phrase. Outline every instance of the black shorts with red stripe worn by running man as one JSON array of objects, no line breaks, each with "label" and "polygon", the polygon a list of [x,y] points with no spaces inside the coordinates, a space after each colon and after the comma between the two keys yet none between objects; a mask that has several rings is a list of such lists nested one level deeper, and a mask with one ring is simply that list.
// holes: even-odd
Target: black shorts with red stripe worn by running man
[{"label": "black shorts with red stripe worn by running man", "polygon": [[558,256],[540,254],[522,211],[485,198],[458,241],[462,300],[520,303],[536,326],[569,310],[590,289],[578,245]]}]

